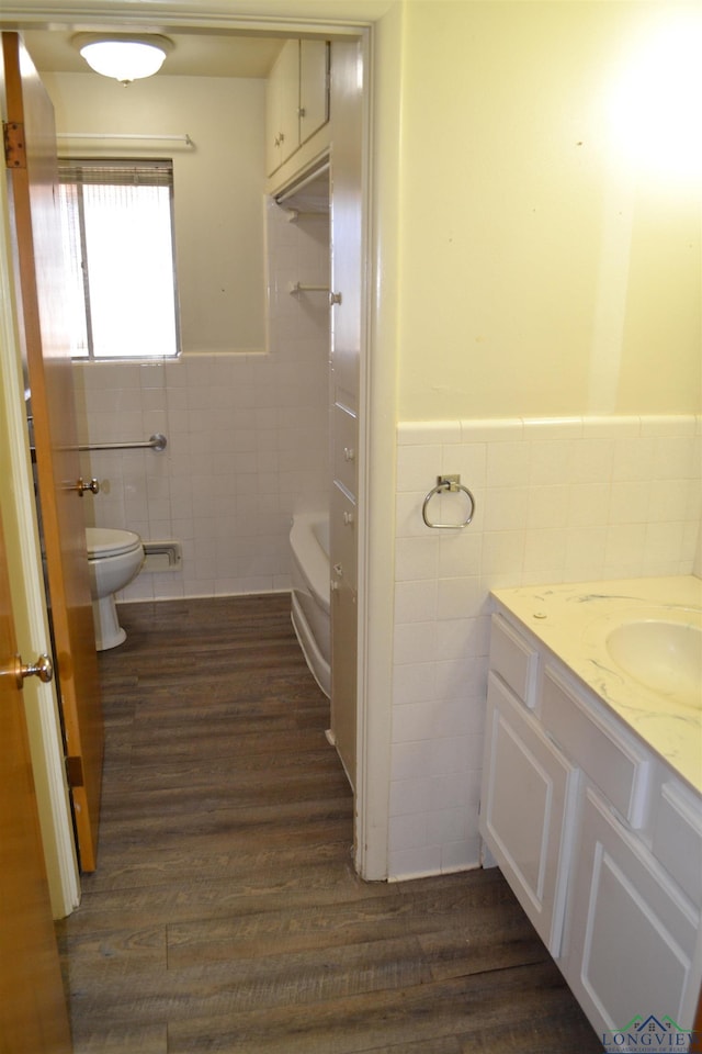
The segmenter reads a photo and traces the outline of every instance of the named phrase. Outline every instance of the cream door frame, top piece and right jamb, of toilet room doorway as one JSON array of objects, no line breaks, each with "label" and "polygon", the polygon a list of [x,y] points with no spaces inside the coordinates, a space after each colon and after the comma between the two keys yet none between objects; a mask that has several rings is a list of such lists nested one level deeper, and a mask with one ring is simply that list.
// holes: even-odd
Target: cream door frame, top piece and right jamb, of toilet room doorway
[{"label": "cream door frame, top piece and right jamb, of toilet room doorway", "polygon": [[[188,29],[193,32],[206,30],[210,33],[256,32],[258,34],[278,34],[281,36],[291,36],[298,33],[314,33],[327,37],[360,37],[363,42],[364,56],[364,120],[363,120],[363,177],[362,177],[362,212],[363,212],[363,239],[364,255],[366,266],[363,268],[362,291],[361,291],[361,390],[359,411],[363,423],[359,442],[359,498],[362,507],[362,515],[359,519],[358,546],[359,546],[359,635],[358,635],[358,694],[356,694],[356,800],[355,800],[355,865],[359,874],[366,879],[384,879],[387,877],[387,829],[388,829],[388,786],[389,786],[389,703],[387,698],[388,682],[392,680],[389,673],[389,662],[392,660],[392,578],[388,578],[388,562],[385,556],[388,550],[392,536],[384,531],[383,543],[378,551],[373,552],[371,547],[371,534],[375,535],[374,524],[380,520],[387,523],[388,501],[392,503],[392,495],[388,498],[387,482],[394,482],[394,463],[386,464],[378,472],[377,479],[372,480],[370,475],[371,442],[374,435],[382,438],[384,453],[392,457],[394,449],[395,425],[394,421],[387,419],[387,407],[377,406],[376,400],[371,397],[373,377],[377,373],[377,368],[372,362],[370,355],[370,345],[372,335],[377,333],[378,307],[375,302],[377,295],[374,292],[375,271],[377,268],[376,245],[374,244],[375,224],[371,215],[373,193],[373,169],[371,165],[371,145],[373,143],[373,121],[372,115],[374,105],[372,102],[374,68],[373,68],[373,23],[385,14],[393,5],[388,0],[372,0],[371,3],[365,0],[355,3],[350,0],[343,4],[347,18],[341,18],[333,12],[333,0],[325,4],[324,12],[320,12],[319,19],[312,19],[308,14],[295,16],[294,9],[297,0],[290,0],[290,13],[287,18],[281,18],[280,7],[275,13],[265,15],[260,11],[260,0],[257,4],[258,12],[251,13],[252,4],[238,3],[239,11],[223,13],[222,7],[216,0],[186,0],[179,8],[170,8],[168,3],[161,5],[155,0],[143,0],[138,12],[134,8],[122,4],[112,4],[112,10],[106,10],[106,4],[93,2],[93,0],[75,0],[71,8],[71,16],[63,15],[56,8],[50,5],[50,0],[25,0],[21,5],[18,2],[18,9],[7,10],[0,16],[0,27],[22,30],[61,27],[63,25],[71,29],[79,29],[80,21],[78,15],[81,10],[90,21],[90,27],[99,30],[101,25],[105,29],[118,29],[129,26],[138,29],[143,25],[145,29],[154,30],[154,21],[168,32],[169,27]],[[246,9],[249,9],[248,12]],[[305,0],[299,0],[299,8],[305,11],[308,7]],[[245,10],[241,10],[245,9]],[[358,10],[360,18],[358,21],[349,16],[348,12]],[[338,10],[338,9],[337,9]],[[325,20],[324,14],[327,18]],[[337,21],[338,19],[338,21]],[[384,372],[381,371],[381,375]],[[382,402],[382,401],[381,401]],[[376,408],[377,406],[377,408]],[[374,421],[371,421],[371,414]],[[378,483],[382,490],[378,487]],[[370,497],[374,493],[374,501],[380,501],[382,495],[382,508],[371,513]],[[394,493],[394,492],[393,492]],[[392,505],[390,505],[392,507]],[[380,550],[383,552],[381,553]],[[382,586],[375,581],[371,588],[373,579],[371,570],[380,572]],[[389,588],[389,599],[386,591]],[[372,618],[372,609],[377,612],[378,618]],[[367,627],[373,624],[375,629],[373,637],[369,635]],[[371,652],[373,654],[371,654]],[[378,657],[382,657],[381,661]],[[369,659],[373,663],[373,669],[369,664]],[[380,692],[377,691],[380,688]]]}]

